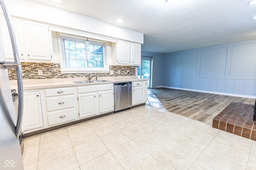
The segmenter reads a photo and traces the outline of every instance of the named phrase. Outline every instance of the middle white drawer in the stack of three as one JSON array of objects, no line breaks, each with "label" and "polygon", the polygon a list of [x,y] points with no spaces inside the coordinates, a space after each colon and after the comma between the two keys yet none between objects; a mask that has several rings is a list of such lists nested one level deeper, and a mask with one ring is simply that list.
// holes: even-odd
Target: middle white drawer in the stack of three
[{"label": "middle white drawer in the stack of three", "polygon": [[66,109],[75,106],[74,96],[62,96],[59,98],[46,98],[46,110],[53,111],[58,109]]}]

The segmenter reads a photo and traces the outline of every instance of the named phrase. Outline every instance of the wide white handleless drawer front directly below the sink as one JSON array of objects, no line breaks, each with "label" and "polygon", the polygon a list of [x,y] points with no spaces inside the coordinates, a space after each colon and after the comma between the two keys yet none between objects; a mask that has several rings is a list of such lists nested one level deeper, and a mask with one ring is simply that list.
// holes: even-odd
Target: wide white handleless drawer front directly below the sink
[{"label": "wide white handleless drawer front directly below the sink", "polygon": [[80,86],[77,88],[78,93],[88,93],[96,92],[102,90],[112,90],[114,89],[114,84],[102,84],[102,85],[89,85],[89,86]]}]

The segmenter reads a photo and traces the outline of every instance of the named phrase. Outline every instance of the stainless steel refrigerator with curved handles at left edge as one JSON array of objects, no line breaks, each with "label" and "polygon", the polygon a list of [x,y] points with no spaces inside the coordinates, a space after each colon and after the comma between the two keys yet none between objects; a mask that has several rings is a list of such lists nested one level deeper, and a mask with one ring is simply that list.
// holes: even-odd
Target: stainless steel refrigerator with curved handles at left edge
[{"label": "stainless steel refrigerator with curved handles at left edge", "polygon": [[[8,34],[10,34],[14,54],[14,61],[6,61],[2,31],[0,31],[0,169],[23,170],[19,141],[23,110],[22,72],[14,31],[3,0],[0,0],[0,5],[8,25]],[[18,113],[15,113],[14,109],[8,69],[15,69],[17,74]]]}]

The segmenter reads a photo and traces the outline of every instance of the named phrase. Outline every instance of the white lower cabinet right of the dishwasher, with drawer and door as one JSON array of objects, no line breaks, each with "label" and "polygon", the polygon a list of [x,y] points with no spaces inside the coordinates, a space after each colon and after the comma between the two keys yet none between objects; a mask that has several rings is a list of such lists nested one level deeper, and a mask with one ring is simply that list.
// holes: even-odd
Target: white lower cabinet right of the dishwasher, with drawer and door
[{"label": "white lower cabinet right of the dishwasher, with drawer and door", "polygon": [[148,99],[148,82],[132,82],[132,106],[146,103]]}]

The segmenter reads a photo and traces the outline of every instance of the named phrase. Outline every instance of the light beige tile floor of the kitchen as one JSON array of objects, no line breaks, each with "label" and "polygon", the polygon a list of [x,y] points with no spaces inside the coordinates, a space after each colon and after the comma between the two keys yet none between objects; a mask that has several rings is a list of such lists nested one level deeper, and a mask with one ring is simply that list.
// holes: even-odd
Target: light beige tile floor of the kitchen
[{"label": "light beige tile floor of the kitchen", "polygon": [[256,141],[140,106],[24,139],[25,170],[255,170]]}]

